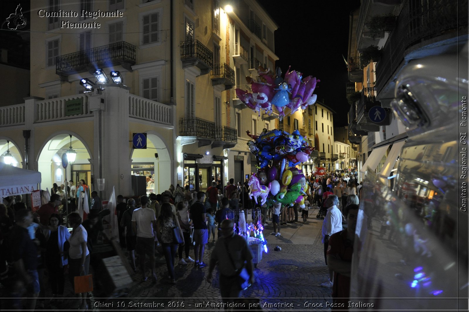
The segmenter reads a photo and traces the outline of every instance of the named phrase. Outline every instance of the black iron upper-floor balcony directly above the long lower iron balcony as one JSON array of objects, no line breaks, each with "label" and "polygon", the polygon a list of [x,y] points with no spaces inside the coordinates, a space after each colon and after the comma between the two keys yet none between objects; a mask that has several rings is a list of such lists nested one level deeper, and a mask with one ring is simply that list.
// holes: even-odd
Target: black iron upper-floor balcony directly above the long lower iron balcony
[{"label": "black iron upper-floor balcony directly above the long lower iron balcony", "polygon": [[181,42],[182,68],[196,66],[200,74],[205,75],[213,68],[213,53],[199,40],[188,40]]}]

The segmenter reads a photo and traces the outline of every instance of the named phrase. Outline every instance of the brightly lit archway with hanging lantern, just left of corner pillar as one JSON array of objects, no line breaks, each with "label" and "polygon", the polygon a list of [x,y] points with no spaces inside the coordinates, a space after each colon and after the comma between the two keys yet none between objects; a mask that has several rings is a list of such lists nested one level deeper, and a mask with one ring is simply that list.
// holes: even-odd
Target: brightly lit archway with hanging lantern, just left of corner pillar
[{"label": "brightly lit archway with hanging lantern, just left of corner pillar", "polygon": [[[71,145],[70,134],[72,135]],[[70,180],[71,165],[67,166],[67,172],[65,172],[61,164],[62,154],[70,146],[76,151],[75,165],[90,165],[88,159],[92,158],[92,156],[85,140],[72,132],[54,133],[45,140],[37,156],[38,171],[41,172],[42,177],[41,188],[51,188],[53,183],[57,183],[59,186],[64,184],[65,174],[67,174],[67,180]],[[91,172],[89,176],[91,176]],[[90,181],[87,180],[87,182],[89,184]]]}]

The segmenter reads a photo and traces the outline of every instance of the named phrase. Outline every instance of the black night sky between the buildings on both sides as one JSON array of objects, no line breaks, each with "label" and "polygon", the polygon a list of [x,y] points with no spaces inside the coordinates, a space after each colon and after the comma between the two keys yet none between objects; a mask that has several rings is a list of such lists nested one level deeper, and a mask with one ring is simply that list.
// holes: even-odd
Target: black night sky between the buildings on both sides
[{"label": "black night sky between the buildings on both sides", "polygon": [[321,80],[314,91],[331,107],[334,126],[348,124],[346,98],[348,26],[350,12],[360,0],[303,1],[258,0],[279,29],[275,35],[276,62],[282,73],[288,66]]}]

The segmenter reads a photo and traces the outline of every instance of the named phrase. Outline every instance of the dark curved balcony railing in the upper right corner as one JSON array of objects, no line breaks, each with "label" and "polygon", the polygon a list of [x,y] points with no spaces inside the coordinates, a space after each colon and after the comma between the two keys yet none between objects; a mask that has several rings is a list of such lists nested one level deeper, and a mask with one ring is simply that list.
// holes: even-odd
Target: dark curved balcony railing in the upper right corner
[{"label": "dark curved balcony railing in the upper right corner", "polygon": [[396,27],[381,49],[381,61],[376,66],[378,94],[400,66],[406,49],[448,31],[465,29],[467,33],[468,0],[402,2],[403,8],[397,17]]}]

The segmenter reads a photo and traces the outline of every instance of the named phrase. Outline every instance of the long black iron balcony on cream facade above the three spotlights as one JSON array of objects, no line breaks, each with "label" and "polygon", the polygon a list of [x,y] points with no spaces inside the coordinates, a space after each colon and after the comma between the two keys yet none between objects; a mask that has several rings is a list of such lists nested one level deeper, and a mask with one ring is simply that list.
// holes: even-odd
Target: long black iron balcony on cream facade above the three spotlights
[{"label": "long black iron balcony on cream facade above the three spotlights", "polygon": [[68,76],[100,67],[121,65],[127,70],[136,63],[136,46],[121,41],[57,57],[55,73]]}]

